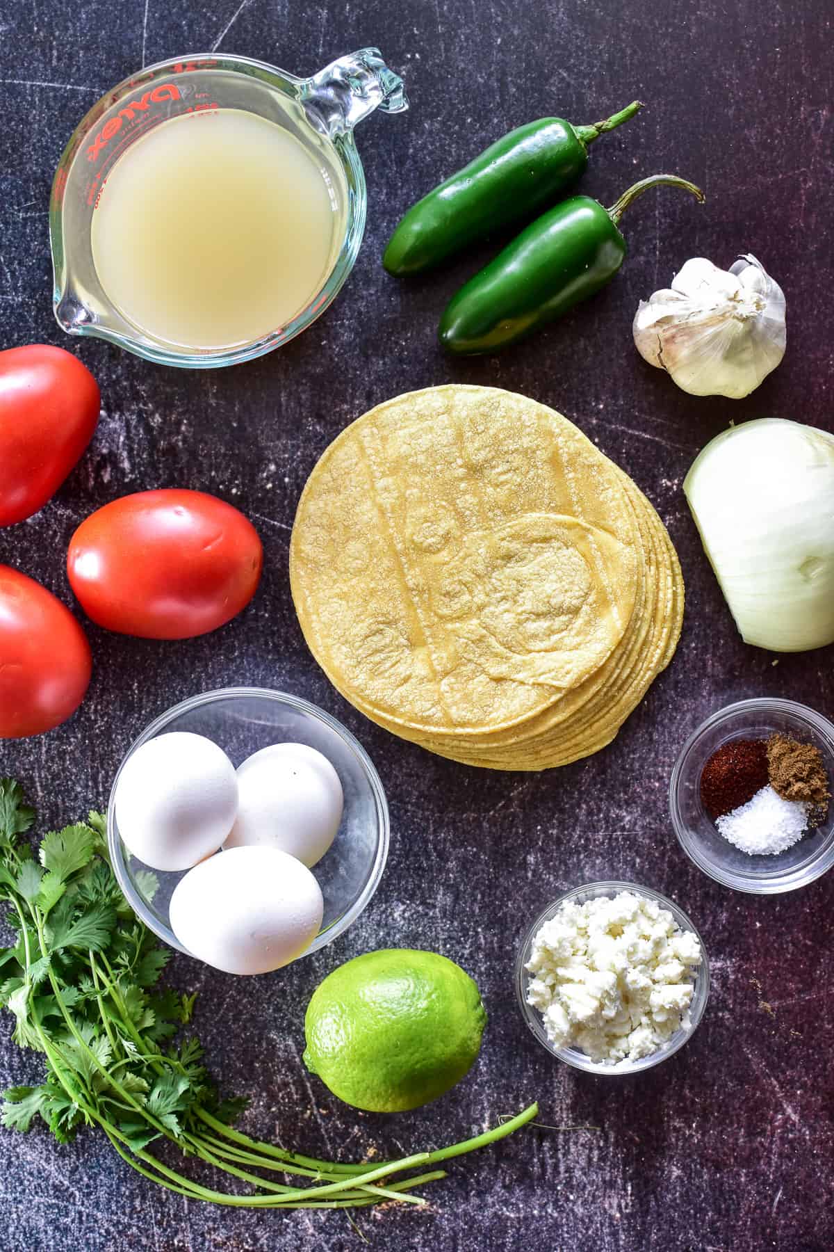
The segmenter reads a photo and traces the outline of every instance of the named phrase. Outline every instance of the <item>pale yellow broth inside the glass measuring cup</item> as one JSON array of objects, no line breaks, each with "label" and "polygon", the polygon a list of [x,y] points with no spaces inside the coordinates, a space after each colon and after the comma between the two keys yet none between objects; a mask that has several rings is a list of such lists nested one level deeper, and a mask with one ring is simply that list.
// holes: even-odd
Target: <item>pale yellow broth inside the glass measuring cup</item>
[{"label": "pale yellow broth inside the glass measuring cup", "polygon": [[170,118],[131,144],[90,227],[106,297],[190,352],[254,343],[318,295],[341,248],[346,193],[315,140],[244,109]]}]

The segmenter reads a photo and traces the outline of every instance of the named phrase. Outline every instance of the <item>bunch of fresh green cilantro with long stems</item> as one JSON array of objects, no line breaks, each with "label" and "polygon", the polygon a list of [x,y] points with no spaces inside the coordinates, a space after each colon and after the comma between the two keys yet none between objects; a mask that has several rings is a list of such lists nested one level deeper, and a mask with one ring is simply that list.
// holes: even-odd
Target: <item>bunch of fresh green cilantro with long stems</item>
[{"label": "bunch of fresh green cilantro with long stems", "polygon": [[[0,901],[10,906],[6,920],[15,931],[15,943],[0,948],[0,1005],[15,1018],[15,1043],[46,1058],[40,1087],[4,1093],[4,1126],[29,1131],[40,1117],[61,1143],[81,1127],[99,1127],[128,1164],[189,1199],[349,1208],[425,1203],[413,1188],[445,1177],[426,1167],[485,1147],[535,1117],[531,1104],[473,1139],[373,1167],[318,1161],[239,1133],[231,1122],[246,1102],[220,1102],[195,1038],[171,1043],[190,1022],[195,997],[158,988],[169,953],[121,894],[104,818],[91,813],[86,823],[50,831],[36,860],[20,838],[34,816],[20,786],[0,780]],[[150,899],[155,875],[146,873],[141,886]],[[239,1189],[204,1187],[169,1168],[149,1152],[161,1139],[235,1179]],[[391,1181],[413,1169],[421,1172]],[[295,1176],[304,1186],[264,1173]]]}]

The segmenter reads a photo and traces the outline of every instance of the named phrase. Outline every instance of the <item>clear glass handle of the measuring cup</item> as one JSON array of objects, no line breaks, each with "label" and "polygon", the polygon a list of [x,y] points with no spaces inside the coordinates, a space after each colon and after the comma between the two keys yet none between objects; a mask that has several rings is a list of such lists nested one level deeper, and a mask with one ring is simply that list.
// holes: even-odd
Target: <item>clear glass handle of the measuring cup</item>
[{"label": "clear glass handle of the measuring cup", "polygon": [[374,109],[404,113],[409,106],[403,79],[379,48],[363,48],[325,66],[304,84],[303,101],[311,124],[330,139],[353,130]]}]

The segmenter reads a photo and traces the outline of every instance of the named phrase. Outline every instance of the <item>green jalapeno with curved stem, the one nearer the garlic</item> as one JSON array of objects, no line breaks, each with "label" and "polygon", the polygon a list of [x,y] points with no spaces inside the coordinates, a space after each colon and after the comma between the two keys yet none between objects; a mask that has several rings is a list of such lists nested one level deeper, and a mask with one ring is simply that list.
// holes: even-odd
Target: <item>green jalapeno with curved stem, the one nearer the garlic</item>
[{"label": "green jalapeno with curved stem, the one nearer the garlic", "polygon": [[650,187],[704,193],[674,174],[644,178],[610,209],[574,195],[530,223],[453,295],[440,343],[459,356],[498,352],[586,300],[614,278],[628,252],[618,230],[624,210]]}]

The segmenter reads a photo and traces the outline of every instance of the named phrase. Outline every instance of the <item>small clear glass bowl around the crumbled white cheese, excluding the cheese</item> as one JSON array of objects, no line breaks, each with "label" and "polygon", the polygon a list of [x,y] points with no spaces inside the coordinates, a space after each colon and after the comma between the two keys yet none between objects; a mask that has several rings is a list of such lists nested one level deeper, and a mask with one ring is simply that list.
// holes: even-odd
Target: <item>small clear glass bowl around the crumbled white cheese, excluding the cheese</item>
[{"label": "small clear glass bowl around the crumbled white cheese, excluding the cheese", "polygon": [[[611,1065],[605,1064],[601,1060],[591,1060],[590,1057],[586,1053],[580,1052],[579,1048],[555,1048],[553,1045],[544,1029],[544,1022],[540,1012],[531,1004],[528,1004],[526,989],[530,975],[526,972],[525,965],[530,959],[535,935],[539,933],[545,921],[550,921],[550,919],[556,915],[563,904],[566,901],[570,904],[584,904],[586,900],[596,900],[601,895],[614,896],[619,891],[634,891],[635,895],[644,895],[648,900],[654,900],[663,909],[668,909],[680,929],[691,930],[698,939],[701,952],[701,963],[695,970],[695,983],[686,1024],[675,1030],[671,1038],[668,1039],[663,1047],[658,1048],[656,1052],[650,1053],[650,1055],[640,1057],[639,1060],[618,1060],[616,1064]],[[584,1069],[585,1073],[589,1074],[639,1074],[643,1069],[651,1069],[654,1065],[659,1065],[661,1060],[668,1060],[669,1057],[678,1052],[679,1048],[683,1048],[683,1045],[688,1043],[695,1033],[698,1024],[704,1015],[706,1000],[709,999],[709,960],[706,958],[706,948],[704,947],[704,940],[698,934],[698,930],[691,924],[684,910],[679,909],[673,900],[668,900],[665,895],[660,895],[659,891],[653,891],[650,886],[639,886],[636,883],[589,883],[586,886],[575,886],[573,891],[565,891],[564,895],[560,895],[553,901],[553,904],[549,904],[544,913],[539,914],[525,934],[524,942],[519,949],[518,960],[515,962],[515,994],[521,1009],[521,1017],[541,1047],[546,1048],[551,1057],[558,1057],[559,1060],[564,1060],[565,1064],[573,1065],[574,1069]]]}]

